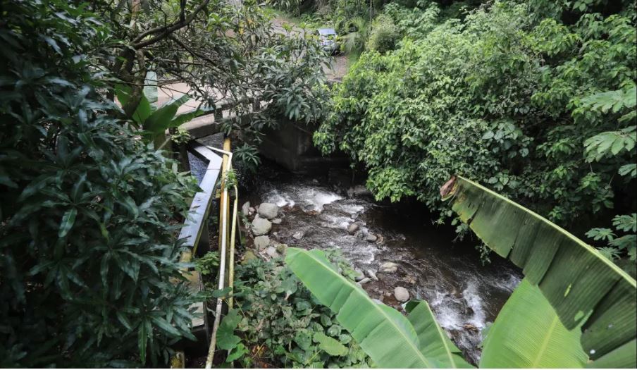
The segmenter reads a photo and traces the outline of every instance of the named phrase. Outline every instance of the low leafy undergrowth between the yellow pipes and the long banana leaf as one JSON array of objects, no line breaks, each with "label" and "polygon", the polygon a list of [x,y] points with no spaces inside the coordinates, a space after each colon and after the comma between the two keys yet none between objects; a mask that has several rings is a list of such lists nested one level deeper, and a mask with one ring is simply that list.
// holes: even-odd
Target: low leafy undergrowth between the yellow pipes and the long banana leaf
[{"label": "low leafy undergrowth between the yellow pipes and the long banana leaf", "polygon": [[[328,255],[345,276],[354,277],[342,257]],[[237,266],[236,273],[239,309],[233,314],[236,319],[228,320],[230,335],[236,338],[218,345],[235,353],[230,360],[243,367],[369,366],[369,357],[342,329],[335,313],[316,301],[283,259],[251,259]]]}]

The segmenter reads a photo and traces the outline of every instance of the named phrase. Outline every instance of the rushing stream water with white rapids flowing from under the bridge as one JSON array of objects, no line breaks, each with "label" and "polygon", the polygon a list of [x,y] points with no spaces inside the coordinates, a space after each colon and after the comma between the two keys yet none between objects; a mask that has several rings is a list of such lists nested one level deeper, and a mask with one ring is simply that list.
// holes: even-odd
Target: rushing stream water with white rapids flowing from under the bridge
[{"label": "rushing stream water with white rapids flowing from under the bridge", "polygon": [[[453,230],[433,226],[432,216],[420,204],[381,204],[327,180],[267,166],[260,172],[258,186],[252,194],[241,195],[241,201],[281,207],[282,222],[273,225],[271,240],[307,249],[340,249],[356,269],[376,272],[378,281],[362,285],[370,297],[397,309],[402,307],[392,292],[397,286],[407,288],[412,298],[429,302],[466,359],[478,361],[481,331],[521,279],[512,264],[492,253],[492,262],[483,266],[473,248],[475,240],[454,242]],[[348,232],[352,223],[359,226],[355,233]],[[376,241],[366,240],[370,233]],[[397,271],[379,271],[388,261],[397,264]]]}]

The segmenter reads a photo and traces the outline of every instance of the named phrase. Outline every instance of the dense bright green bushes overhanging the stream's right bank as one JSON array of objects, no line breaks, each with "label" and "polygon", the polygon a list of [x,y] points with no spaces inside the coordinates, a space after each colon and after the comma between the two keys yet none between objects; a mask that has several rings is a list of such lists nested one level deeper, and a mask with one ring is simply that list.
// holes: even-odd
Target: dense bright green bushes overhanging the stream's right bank
[{"label": "dense bright green bushes overhanging the stream's right bank", "polygon": [[460,173],[562,225],[635,211],[634,1],[385,11],[404,39],[361,56],[314,136],[364,164],[377,199],[451,216],[438,187]]}]

